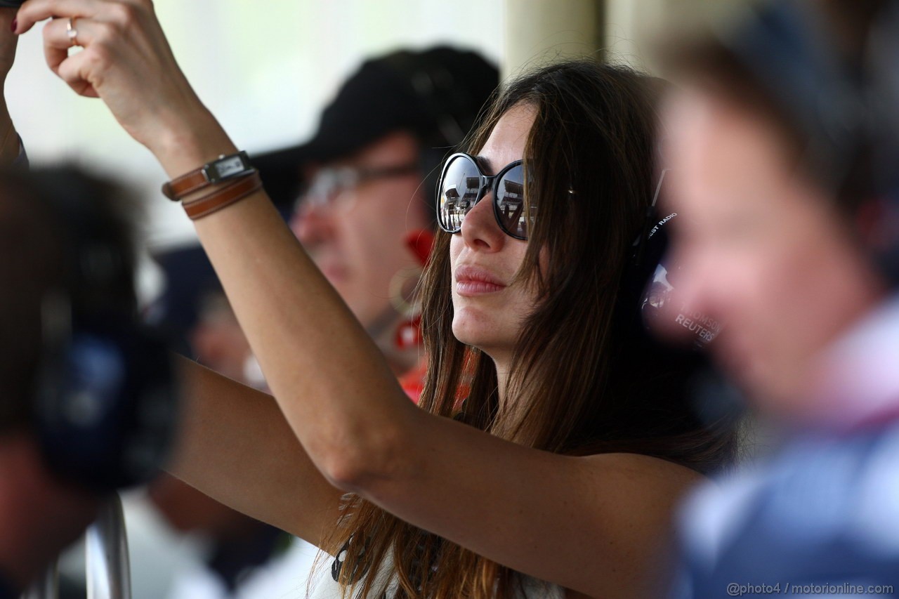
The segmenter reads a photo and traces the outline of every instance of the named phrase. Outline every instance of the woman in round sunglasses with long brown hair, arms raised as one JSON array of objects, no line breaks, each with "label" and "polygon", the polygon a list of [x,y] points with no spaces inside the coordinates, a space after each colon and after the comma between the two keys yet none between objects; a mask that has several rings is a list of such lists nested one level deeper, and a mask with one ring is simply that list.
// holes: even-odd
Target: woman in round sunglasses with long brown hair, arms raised
[{"label": "woman in round sunglasses with long brown hair, arms raised", "polygon": [[30,0],[16,31],[50,16],[51,68],[173,177],[275,399],[185,363],[176,475],[329,553],[315,596],[647,592],[673,506],[732,447],[690,411],[683,364],[641,340],[625,284],[656,183],[651,81],[539,70],[449,159],[415,407],[193,94],[152,4]]}]

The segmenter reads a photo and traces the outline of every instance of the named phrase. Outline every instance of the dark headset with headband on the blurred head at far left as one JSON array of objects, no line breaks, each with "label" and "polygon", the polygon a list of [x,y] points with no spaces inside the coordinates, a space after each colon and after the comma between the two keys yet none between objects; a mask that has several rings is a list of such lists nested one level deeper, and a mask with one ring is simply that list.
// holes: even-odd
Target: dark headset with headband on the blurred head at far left
[{"label": "dark headset with headband on the blurred head at far left", "polygon": [[66,261],[66,281],[40,306],[32,421],[45,460],[95,492],[145,482],[174,438],[176,387],[165,344],[138,322],[132,240],[103,204],[120,198],[74,168],[29,179]]}]

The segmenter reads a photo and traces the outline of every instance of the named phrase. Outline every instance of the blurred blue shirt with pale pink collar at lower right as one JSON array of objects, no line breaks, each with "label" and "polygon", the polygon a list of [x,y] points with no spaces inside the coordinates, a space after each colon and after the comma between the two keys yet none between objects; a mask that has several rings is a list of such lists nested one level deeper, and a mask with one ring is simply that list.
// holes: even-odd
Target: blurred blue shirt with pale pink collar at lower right
[{"label": "blurred blue shirt with pale pink collar at lower right", "polygon": [[899,597],[899,297],[824,363],[813,424],[685,506],[674,597]]}]

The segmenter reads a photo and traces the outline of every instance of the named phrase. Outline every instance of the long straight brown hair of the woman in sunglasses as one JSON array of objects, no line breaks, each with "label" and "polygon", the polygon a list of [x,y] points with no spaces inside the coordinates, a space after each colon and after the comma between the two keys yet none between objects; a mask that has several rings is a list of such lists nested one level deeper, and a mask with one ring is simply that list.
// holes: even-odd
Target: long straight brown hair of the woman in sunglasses
[{"label": "long straight brown hair of the woman in sunglasses", "polygon": [[[685,400],[683,364],[645,353],[630,322],[636,300],[619,292],[654,191],[655,84],[627,67],[589,60],[541,68],[508,85],[467,139],[482,148],[497,121],[526,103],[536,120],[525,147],[526,196],[539,218],[519,273],[539,301],[521,330],[501,409],[493,361],[452,334],[449,234],[424,275],[423,334],[429,356],[420,406],[459,417],[514,443],[585,455],[632,451],[708,472],[730,457],[727,426],[704,425]],[[539,266],[546,250],[547,268]],[[469,385],[458,414],[458,389]],[[507,597],[510,568],[347,496],[325,543],[341,554],[339,582],[361,596],[392,559],[397,596]],[[377,583],[377,584],[376,584]],[[373,596],[373,595],[371,595]]]}]

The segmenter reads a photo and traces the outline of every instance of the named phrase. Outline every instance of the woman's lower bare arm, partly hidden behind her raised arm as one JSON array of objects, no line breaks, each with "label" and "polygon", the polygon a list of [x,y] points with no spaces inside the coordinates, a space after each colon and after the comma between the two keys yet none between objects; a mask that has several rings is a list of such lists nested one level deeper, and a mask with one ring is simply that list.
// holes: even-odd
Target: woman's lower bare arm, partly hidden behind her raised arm
[{"label": "woman's lower bare arm, partly hidden behind her raised arm", "polygon": [[271,396],[180,358],[184,402],[168,469],[244,514],[319,544],[341,490],[309,460]]}]

